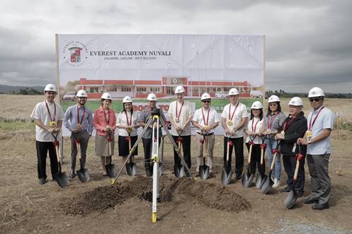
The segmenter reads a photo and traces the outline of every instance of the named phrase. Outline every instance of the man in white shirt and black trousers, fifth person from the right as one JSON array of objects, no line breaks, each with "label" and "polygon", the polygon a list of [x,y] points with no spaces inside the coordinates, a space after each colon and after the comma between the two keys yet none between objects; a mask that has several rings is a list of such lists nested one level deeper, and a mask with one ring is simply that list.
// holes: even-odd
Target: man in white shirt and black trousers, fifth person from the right
[{"label": "man in white shirt and black trousers, fifth person from the right", "polygon": [[[229,104],[225,105],[221,114],[221,124],[224,128],[224,166],[226,165],[227,140],[232,142],[229,147],[229,165],[232,161],[232,149],[236,156],[236,180],[242,177],[244,165],[243,141],[244,125],[248,119],[246,105],[239,103],[239,91],[237,88],[229,90]],[[229,137],[227,137],[229,136]],[[232,145],[232,146],[231,146]]]}]

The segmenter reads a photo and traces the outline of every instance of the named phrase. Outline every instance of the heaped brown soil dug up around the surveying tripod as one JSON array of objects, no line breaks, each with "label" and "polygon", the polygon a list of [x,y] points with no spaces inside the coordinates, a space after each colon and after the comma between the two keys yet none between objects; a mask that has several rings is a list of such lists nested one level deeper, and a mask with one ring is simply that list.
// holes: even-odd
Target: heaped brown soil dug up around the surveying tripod
[{"label": "heaped brown soil dug up around the surveying tripod", "polygon": [[[159,180],[159,194],[161,202],[193,201],[212,209],[220,209],[237,213],[250,208],[239,194],[229,191],[223,185],[208,182],[198,182],[187,178],[176,179],[163,176]],[[80,194],[78,197],[68,199],[60,205],[62,211],[72,215],[86,215],[91,212],[103,212],[123,204],[127,199],[139,197],[150,200],[152,191],[152,178],[137,176],[134,180],[120,182],[115,186],[97,187],[92,191]]]}]

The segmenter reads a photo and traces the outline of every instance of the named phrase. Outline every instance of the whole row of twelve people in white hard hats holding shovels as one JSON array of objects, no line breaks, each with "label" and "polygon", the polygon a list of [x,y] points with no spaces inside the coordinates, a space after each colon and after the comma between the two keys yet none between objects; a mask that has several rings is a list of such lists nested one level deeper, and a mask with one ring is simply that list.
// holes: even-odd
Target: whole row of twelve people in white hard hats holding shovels
[{"label": "whole row of twelve people in white hard hats holding shovels", "polygon": [[[147,128],[142,136],[144,149],[144,168],[147,176],[152,175],[152,131],[153,125],[148,121],[152,111],[157,107],[157,96],[149,93],[147,96],[148,107],[137,115],[133,112],[132,98],[123,98],[123,111],[115,117],[111,108],[113,101],[109,93],[101,95],[101,107],[92,115],[86,107],[87,93],[79,90],[76,93],[77,103],[67,108],[66,112],[55,103],[57,88],[48,84],[45,86],[45,101],[35,105],[31,117],[36,124],[36,149],[38,157],[38,179],[41,185],[45,184],[47,151],[50,156],[50,166],[53,180],[58,172],[57,155],[55,146],[59,143],[55,136],[60,131],[62,124],[71,131],[71,170],[69,177],[75,177],[77,149],[80,149],[80,163],[86,163],[86,150],[93,128],[96,129],[95,154],[101,158],[102,174],[108,175],[106,165],[111,163],[114,155],[115,130],[118,128],[118,155],[123,163],[130,153],[130,146],[137,141],[137,129]],[[228,93],[229,104],[223,108],[221,119],[217,111],[211,106],[211,96],[208,93],[201,95],[201,105],[193,113],[191,103],[184,100],[186,90],[183,86],[175,89],[176,100],[169,105],[169,122],[171,135],[174,141],[181,145],[183,159],[188,168],[191,168],[191,124],[196,129],[195,145],[196,171],[203,165],[203,153],[206,154],[205,164],[210,167],[210,173],[215,173],[214,166],[214,129],[221,122],[224,129],[223,158],[225,165],[232,165],[232,151],[235,155],[235,180],[242,178],[244,168],[244,140],[246,147],[251,151],[250,172],[252,175],[259,171],[265,173],[265,163],[261,162],[261,149],[265,148],[268,163],[275,158],[275,169],[271,173],[273,187],[280,186],[281,160],[287,173],[287,187],[284,192],[295,192],[301,197],[305,186],[305,158],[310,170],[312,192],[310,197],[303,199],[306,204],[314,204],[312,209],[329,208],[330,180],[328,173],[329,156],[331,154],[330,133],[334,126],[334,113],[324,107],[324,92],[321,88],[314,87],[310,90],[308,98],[312,105],[312,112],[308,120],[302,112],[303,102],[295,97],[288,103],[288,117],[281,110],[280,98],[272,95],[268,98],[268,112],[263,112],[263,105],[256,101],[251,105],[251,113],[247,114],[246,105],[239,103],[239,91],[231,88]],[[160,118],[166,121],[163,112]],[[147,126],[147,124],[149,125]],[[161,141],[161,126],[158,127],[159,144]],[[207,144],[205,144],[205,141]],[[228,144],[229,142],[229,144]],[[229,163],[227,164],[227,146],[229,145]],[[207,148],[203,148],[203,147]],[[137,146],[132,153],[132,160],[137,156]],[[297,180],[293,181],[296,160],[300,160]],[[264,161],[265,162],[265,161]],[[174,168],[181,165],[181,158],[174,149]],[[230,168],[231,169],[231,168]],[[232,170],[232,169],[231,169]],[[188,175],[188,172],[186,172]],[[188,175],[189,176],[189,175]]]}]

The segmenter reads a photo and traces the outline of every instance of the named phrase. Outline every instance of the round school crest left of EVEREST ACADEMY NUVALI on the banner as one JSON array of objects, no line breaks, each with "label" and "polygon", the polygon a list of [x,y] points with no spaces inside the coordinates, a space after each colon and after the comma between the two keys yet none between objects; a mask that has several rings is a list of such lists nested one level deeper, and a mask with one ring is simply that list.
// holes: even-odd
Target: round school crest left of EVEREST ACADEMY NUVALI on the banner
[{"label": "round school crest left of EVEREST ACADEMY NUVALI on the banner", "polygon": [[64,45],[62,57],[70,66],[81,66],[88,59],[88,49],[83,42],[70,41]]}]

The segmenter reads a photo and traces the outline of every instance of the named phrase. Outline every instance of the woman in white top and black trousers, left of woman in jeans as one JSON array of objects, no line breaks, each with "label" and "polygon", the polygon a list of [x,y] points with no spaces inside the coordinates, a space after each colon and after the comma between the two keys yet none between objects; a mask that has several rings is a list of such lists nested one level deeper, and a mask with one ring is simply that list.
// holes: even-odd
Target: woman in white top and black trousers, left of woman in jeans
[{"label": "woman in white top and black trousers, left of woman in jeans", "polygon": [[251,105],[251,117],[249,118],[244,132],[246,133],[246,146],[252,146],[251,151],[251,168],[249,171],[251,175],[256,174],[256,168],[261,175],[265,173],[265,161],[261,165],[261,129],[263,127],[263,105],[261,102],[256,101]]}]

